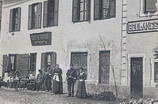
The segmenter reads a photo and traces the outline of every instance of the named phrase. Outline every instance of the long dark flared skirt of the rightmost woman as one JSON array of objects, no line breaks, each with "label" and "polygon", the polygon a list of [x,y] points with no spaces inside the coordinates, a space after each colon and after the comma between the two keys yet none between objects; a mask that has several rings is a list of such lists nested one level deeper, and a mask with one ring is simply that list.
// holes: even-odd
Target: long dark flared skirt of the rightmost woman
[{"label": "long dark flared skirt of the rightmost woman", "polygon": [[76,97],[79,97],[79,98],[87,97],[85,81],[78,81]]}]

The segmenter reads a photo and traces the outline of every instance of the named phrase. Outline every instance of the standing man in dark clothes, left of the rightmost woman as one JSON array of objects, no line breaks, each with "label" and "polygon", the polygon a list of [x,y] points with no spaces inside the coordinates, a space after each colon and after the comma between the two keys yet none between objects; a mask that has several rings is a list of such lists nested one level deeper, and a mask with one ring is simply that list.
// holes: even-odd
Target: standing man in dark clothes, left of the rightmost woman
[{"label": "standing man in dark clothes, left of the rightmost woman", "polygon": [[77,79],[77,72],[71,65],[70,69],[66,73],[68,84],[68,97],[74,96],[74,85]]}]

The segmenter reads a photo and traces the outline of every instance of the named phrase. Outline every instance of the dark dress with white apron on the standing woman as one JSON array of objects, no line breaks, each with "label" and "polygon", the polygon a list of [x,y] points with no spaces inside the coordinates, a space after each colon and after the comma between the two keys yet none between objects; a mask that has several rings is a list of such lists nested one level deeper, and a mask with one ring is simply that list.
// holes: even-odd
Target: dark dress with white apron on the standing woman
[{"label": "dark dress with white apron on the standing woman", "polygon": [[53,71],[53,93],[55,94],[63,93],[63,79],[62,79],[61,68],[55,68]]}]

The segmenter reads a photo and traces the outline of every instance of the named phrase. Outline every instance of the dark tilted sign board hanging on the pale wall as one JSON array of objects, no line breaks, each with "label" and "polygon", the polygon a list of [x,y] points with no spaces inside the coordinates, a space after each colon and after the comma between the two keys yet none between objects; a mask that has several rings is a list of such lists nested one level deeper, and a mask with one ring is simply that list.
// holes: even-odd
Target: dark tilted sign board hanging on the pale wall
[{"label": "dark tilted sign board hanging on the pale wall", "polygon": [[30,34],[32,46],[51,45],[51,32]]}]

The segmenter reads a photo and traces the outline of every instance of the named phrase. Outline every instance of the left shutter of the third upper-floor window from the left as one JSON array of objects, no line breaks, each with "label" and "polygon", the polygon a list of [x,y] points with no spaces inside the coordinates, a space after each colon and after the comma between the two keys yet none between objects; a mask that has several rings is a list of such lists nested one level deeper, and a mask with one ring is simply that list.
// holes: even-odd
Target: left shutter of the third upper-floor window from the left
[{"label": "left shutter of the third upper-floor window from the left", "polygon": [[44,10],[43,10],[43,27],[48,26],[48,2],[44,2]]}]

